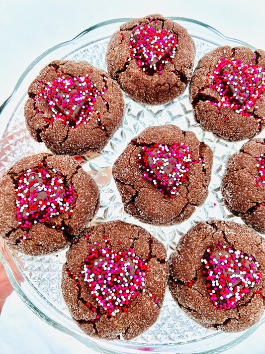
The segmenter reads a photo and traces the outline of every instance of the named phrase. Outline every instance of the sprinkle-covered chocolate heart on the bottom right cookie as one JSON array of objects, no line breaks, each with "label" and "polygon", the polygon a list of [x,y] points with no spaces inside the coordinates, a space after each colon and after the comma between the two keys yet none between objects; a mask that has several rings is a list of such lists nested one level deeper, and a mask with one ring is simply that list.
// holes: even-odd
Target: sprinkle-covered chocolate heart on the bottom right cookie
[{"label": "sprinkle-covered chocolate heart on the bottom right cookie", "polygon": [[218,310],[236,307],[261,278],[260,264],[253,256],[221,242],[208,247],[201,262],[207,291]]}]

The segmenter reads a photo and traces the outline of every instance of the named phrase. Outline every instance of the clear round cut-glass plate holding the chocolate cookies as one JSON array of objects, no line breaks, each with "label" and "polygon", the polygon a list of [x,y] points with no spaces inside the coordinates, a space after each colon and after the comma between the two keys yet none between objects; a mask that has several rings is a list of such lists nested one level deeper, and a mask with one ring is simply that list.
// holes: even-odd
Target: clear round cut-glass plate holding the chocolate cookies
[{"label": "clear round cut-glass plate holding the chocolate cookies", "polygon": [[[182,17],[172,19],[185,27],[195,42],[195,66],[199,58],[217,46],[247,45],[223,36],[204,23]],[[11,97],[0,108],[1,174],[23,156],[46,151],[43,143],[35,142],[28,134],[23,114],[27,88],[40,69],[54,59],[87,60],[106,69],[104,58],[109,37],[127,20],[129,18],[114,19],[92,26],[73,40],[47,50],[26,69]],[[141,105],[126,95],[124,99],[126,113],[123,126],[117,130],[104,150],[100,154],[93,153],[77,158],[100,188],[100,208],[91,224],[120,219],[141,225],[164,243],[170,255],[179,237],[199,221],[218,218],[242,223],[241,219],[231,215],[225,208],[220,193],[220,180],[227,158],[238,151],[244,142],[225,142],[201,130],[194,121],[187,90],[174,102],[163,106]],[[140,223],[124,213],[120,195],[111,176],[111,167],[133,136],[148,126],[167,123],[192,130],[199,140],[210,145],[214,153],[214,164],[209,195],[204,205],[196,208],[195,213],[180,225],[155,227]],[[7,248],[0,237],[0,261],[14,289],[33,312],[53,327],[102,353],[217,353],[240,343],[265,322],[263,317],[251,329],[237,334],[206,330],[180,311],[167,290],[161,314],[148,331],[133,341],[107,342],[85,335],[69,315],[61,293],[61,270],[65,262],[65,251],[43,257],[16,254]]]}]

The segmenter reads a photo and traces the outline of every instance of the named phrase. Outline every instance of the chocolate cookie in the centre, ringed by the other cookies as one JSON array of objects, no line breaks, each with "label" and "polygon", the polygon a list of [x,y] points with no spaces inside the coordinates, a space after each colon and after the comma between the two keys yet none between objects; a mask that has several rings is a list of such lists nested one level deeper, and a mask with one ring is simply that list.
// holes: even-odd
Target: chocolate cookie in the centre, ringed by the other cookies
[{"label": "chocolate cookie in the centre, ringed by the other cookies", "polygon": [[174,225],[205,201],[213,154],[191,131],[153,126],[135,137],[112,174],[126,213],[144,223]]}]

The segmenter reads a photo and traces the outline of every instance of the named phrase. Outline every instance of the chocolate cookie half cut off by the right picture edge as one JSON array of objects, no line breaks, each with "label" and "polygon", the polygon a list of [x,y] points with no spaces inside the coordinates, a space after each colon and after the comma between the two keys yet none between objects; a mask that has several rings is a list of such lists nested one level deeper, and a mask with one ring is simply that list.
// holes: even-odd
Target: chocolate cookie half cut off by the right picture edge
[{"label": "chocolate cookie half cut off by the right picture edge", "polygon": [[265,139],[251,139],[230,156],[221,191],[231,213],[265,234]]}]

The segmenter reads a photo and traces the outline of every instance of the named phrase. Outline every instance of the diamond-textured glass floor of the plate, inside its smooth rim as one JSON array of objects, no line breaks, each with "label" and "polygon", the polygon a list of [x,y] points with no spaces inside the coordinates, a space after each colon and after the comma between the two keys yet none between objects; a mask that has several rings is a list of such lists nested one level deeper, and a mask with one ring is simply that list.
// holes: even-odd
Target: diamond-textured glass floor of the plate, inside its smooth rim
[{"label": "diamond-textured glass floor of the plate, inside its smooth rim", "polygon": [[[194,41],[197,50],[196,65],[202,55],[216,46],[198,38],[194,38]],[[106,69],[104,57],[107,43],[108,38],[92,42],[71,52],[65,58],[86,60],[97,67]],[[26,99],[25,92],[13,112],[0,142],[0,174],[21,157],[46,151],[44,144],[35,142],[27,132],[23,114]],[[241,222],[240,219],[229,214],[224,207],[220,193],[220,181],[227,158],[238,151],[243,143],[228,143],[215,138],[211,133],[204,132],[194,121],[192,108],[188,100],[188,90],[174,102],[163,106],[144,106],[137,104],[126,96],[125,103],[126,113],[123,126],[117,130],[102,153],[93,153],[82,157],[82,167],[95,179],[100,188],[100,208],[91,224],[95,225],[96,223],[110,220],[123,220],[140,225],[153,236],[160,239],[166,246],[168,255],[170,255],[178,239],[199,221],[218,218]],[[111,167],[132,137],[138,135],[148,126],[168,123],[176,124],[184,130],[193,131],[199,140],[207,143],[213,150],[214,164],[209,195],[204,205],[196,208],[194,214],[180,225],[155,227],[143,224],[124,213],[120,195],[111,175]],[[30,257],[19,254],[19,258],[22,262],[22,274],[25,281],[31,287],[37,289],[48,304],[53,305],[59,312],[70,317],[61,292],[61,269],[65,262],[65,251],[43,257]],[[73,328],[75,328],[74,324]],[[138,350],[138,345],[148,345],[151,348],[153,345],[171,345],[203,340],[208,336],[221,337],[223,342],[227,341],[229,343],[229,335],[206,330],[190,320],[179,310],[167,290],[164,306],[158,321],[147,332],[132,341],[130,345],[133,346],[131,348]],[[87,336],[84,335],[84,338],[87,338]],[[125,345],[124,342],[123,344]]]}]

